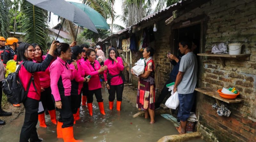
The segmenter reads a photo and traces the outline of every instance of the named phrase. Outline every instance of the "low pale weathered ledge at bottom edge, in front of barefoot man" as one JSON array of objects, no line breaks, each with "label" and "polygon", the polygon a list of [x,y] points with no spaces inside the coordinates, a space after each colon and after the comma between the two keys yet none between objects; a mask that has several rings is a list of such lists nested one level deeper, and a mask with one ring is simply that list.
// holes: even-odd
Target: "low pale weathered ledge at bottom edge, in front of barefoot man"
[{"label": "low pale weathered ledge at bottom edge, in front of barefoot man", "polygon": [[157,142],[183,142],[193,138],[201,138],[201,133],[193,132],[193,133],[186,133],[183,135],[164,136],[163,138],[160,138]]}]

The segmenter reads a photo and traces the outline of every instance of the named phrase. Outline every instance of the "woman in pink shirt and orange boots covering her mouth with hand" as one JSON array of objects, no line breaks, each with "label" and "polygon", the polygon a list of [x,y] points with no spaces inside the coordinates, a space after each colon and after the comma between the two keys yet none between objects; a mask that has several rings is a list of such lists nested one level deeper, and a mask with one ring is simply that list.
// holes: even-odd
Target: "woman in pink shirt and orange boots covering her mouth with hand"
[{"label": "woman in pink shirt and orange boots covering her mouth with hand", "polygon": [[51,89],[55,106],[59,109],[60,118],[57,123],[57,138],[64,142],[76,141],[73,133],[74,117],[71,110],[71,80],[77,73],[69,68],[67,60],[71,60],[71,48],[67,43],[60,43],[55,50],[57,59],[50,66]]}]

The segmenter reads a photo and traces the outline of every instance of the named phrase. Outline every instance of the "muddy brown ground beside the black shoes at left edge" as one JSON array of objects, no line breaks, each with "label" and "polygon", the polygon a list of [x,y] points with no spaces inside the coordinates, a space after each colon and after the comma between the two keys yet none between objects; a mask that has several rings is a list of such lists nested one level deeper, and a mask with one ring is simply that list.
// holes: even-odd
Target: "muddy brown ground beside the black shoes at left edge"
[{"label": "muddy brown ground beside the black shoes at left edge", "polygon": [[5,121],[5,125],[0,126],[0,131],[2,128],[4,128],[8,123],[11,123],[13,120],[19,117],[21,113],[24,111],[23,104],[20,104],[20,107],[14,107],[9,102],[5,102],[4,105],[2,105],[2,109],[7,112],[12,112],[11,116],[0,116],[1,120]]}]

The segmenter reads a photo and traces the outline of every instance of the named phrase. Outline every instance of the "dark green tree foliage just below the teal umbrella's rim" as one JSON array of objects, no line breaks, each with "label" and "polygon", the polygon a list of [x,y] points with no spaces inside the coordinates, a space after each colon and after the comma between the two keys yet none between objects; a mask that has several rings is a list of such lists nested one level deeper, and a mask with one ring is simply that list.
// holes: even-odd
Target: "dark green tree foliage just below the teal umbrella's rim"
[{"label": "dark green tree foliage just below the teal umbrella's rim", "polygon": [[104,29],[97,29],[99,34],[96,34],[94,32],[92,32],[91,30],[88,29],[84,29],[83,33],[81,33],[85,39],[92,39],[92,42],[96,43],[98,42],[98,39],[104,39],[106,38],[108,35],[108,33],[110,33],[110,31],[108,30],[104,30]]}]

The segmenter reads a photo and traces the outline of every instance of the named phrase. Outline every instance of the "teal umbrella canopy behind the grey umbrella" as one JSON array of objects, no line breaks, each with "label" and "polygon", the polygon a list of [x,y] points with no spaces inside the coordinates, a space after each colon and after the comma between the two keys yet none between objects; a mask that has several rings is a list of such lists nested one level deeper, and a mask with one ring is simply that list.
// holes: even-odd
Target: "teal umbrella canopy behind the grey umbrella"
[{"label": "teal umbrella canopy behind the grey umbrella", "polygon": [[110,30],[108,23],[99,12],[95,11],[94,9],[92,9],[91,7],[85,4],[75,3],[75,2],[69,2],[69,3],[74,4],[77,8],[84,11],[92,20],[92,23],[96,28]]}]

